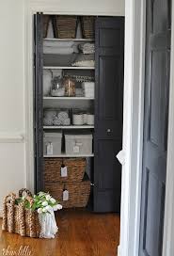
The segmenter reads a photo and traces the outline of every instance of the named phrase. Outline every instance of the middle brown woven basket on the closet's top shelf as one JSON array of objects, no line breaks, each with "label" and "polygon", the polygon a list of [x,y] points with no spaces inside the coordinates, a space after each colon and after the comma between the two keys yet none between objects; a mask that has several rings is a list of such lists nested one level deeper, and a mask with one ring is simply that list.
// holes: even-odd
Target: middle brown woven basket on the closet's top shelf
[{"label": "middle brown woven basket on the closet's top shelf", "polygon": [[77,27],[76,16],[54,16],[55,38],[57,39],[75,39]]}]

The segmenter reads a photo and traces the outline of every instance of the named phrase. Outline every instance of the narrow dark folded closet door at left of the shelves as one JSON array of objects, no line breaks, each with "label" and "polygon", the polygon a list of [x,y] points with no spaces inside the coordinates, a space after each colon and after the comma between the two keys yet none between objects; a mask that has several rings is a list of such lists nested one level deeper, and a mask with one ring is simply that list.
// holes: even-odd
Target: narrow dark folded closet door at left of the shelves
[{"label": "narrow dark folded closet door at left of the shelves", "polygon": [[42,130],[42,14],[34,15],[34,151],[35,190],[43,188],[43,130]]}]

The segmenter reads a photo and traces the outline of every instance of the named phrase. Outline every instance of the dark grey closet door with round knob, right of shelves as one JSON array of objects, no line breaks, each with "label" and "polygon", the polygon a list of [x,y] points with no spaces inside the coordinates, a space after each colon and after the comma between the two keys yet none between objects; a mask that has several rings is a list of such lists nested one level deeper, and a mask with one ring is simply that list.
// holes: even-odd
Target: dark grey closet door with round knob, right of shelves
[{"label": "dark grey closet door with round knob, right of shelves", "polygon": [[96,20],[94,211],[120,211],[124,18]]}]

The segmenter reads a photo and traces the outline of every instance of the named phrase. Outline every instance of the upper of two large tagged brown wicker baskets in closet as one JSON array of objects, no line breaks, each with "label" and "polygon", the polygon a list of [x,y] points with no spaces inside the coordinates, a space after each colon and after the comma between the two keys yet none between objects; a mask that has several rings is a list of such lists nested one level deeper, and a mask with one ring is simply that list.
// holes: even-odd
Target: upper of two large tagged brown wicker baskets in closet
[{"label": "upper of two large tagged brown wicker baskets in closet", "polygon": [[[44,162],[45,183],[82,182],[86,170],[86,164],[86,158],[47,158]],[[67,167],[67,177],[61,177],[62,165]]]}]

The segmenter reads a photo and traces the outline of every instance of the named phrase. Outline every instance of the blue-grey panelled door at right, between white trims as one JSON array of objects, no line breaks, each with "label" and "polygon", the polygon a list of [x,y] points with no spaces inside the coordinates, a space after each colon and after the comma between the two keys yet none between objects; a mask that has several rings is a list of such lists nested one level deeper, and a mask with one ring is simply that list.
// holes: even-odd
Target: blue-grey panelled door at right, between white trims
[{"label": "blue-grey panelled door at right, between white trims", "polygon": [[161,256],[166,191],[170,69],[169,1],[147,1],[140,256]]}]

